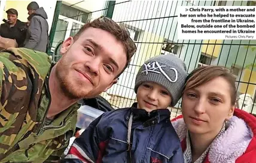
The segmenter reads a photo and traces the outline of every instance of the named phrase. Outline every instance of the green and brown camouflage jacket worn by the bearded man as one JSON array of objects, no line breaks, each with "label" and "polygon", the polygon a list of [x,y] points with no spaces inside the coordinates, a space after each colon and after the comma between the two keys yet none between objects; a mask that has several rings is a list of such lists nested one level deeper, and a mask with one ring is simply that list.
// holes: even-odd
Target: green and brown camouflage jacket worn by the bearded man
[{"label": "green and brown camouflage jacket worn by the bearded man", "polygon": [[75,132],[78,105],[50,124],[51,59],[26,48],[0,52],[0,162],[48,162],[62,155]]}]

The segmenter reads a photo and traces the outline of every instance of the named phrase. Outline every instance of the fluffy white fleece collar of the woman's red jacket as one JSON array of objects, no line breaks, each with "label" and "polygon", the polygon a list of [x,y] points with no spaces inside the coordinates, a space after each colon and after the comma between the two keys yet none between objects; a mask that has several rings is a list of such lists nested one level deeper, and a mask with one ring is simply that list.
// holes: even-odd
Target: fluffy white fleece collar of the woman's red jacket
[{"label": "fluffy white fleece collar of the woman's red jacket", "polygon": [[[183,118],[172,121],[172,125],[179,139],[183,140],[187,133]],[[251,128],[248,128],[245,121],[233,116],[227,124],[227,130],[212,142],[208,153],[209,161],[211,163],[235,162],[246,151],[252,137]]]}]

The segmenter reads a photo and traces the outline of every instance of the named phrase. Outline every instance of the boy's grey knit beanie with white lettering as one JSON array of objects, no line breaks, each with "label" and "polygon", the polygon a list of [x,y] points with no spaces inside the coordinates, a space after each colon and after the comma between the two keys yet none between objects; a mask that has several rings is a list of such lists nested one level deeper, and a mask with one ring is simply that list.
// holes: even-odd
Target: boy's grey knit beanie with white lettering
[{"label": "boy's grey knit beanie with white lettering", "polygon": [[187,77],[185,63],[172,54],[158,55],[148,59],[136,76],[135,93],[144,82],[154,82],[165,87],[172,95],[172,104],[175,106],[181,98]]}]

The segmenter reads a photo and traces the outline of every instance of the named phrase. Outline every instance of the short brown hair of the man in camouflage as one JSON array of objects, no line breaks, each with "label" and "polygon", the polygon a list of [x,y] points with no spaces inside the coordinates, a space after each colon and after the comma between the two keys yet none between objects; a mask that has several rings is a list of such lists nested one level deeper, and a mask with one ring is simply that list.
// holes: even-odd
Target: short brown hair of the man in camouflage
[{"label": "short brown hair of the man in camouflage", "polygon": [[[117,23],[115,23],[115,21],[111,20],[110,18],[102,16],[97,18],[96,20],[93,20],[92,22],[84,24],[84,26],[74,36],[74,40],[77,40],[81,33],[83,33],[84,30],[88,29],[89,27],[105,30],[106,32],[114,35],[115,38],[123,44],[127,58],[126,66],[121,71],[121,73],[123,73],[137,50],[135,43],[130,38],[129,32],[125,29],[125,27],[119,26]],[[118,76],[120,76],[120,74],[118,74]]]}]

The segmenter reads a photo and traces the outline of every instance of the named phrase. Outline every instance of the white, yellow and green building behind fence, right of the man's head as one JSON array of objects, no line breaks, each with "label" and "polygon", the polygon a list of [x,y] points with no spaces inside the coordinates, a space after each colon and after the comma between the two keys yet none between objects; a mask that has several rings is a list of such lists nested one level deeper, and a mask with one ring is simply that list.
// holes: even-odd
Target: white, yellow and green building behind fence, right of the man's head
[{"label": "white, yellow and green building behind fence, right of the man's head", "polygon": [[123,4],[115,5],[112,18],[129,29],[133,40],[137,42],[138,51],[130,67],[108,93],[135,99],[133,87],[139,66],[154,55],[172,53],[184,60],[188,73],[202,65],[223,65],[229,68],[236,76],[237,95],[247,92],[255,101],[256,40],[178,40],[176,32],[179,6],[245,6],[255,5],[255,2],[124,1]]}]

